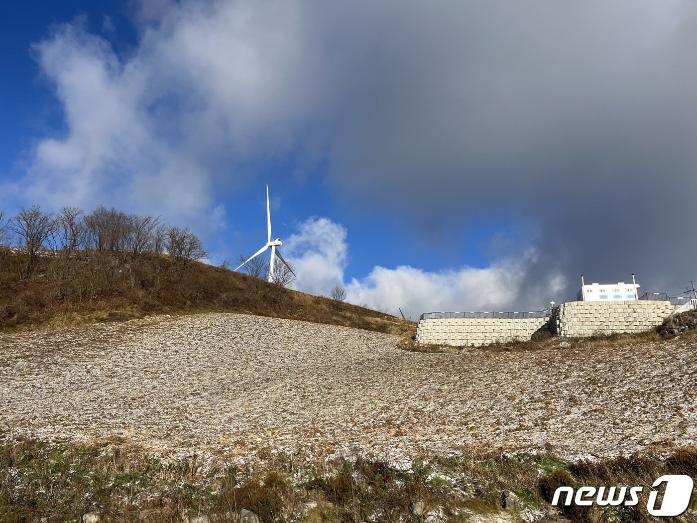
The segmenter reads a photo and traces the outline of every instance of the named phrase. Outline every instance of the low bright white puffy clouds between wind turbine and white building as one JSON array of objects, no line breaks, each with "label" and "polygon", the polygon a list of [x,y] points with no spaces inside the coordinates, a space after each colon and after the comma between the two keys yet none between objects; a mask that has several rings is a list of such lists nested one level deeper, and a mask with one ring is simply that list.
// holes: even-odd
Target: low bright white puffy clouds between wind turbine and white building
[{"label": "low bright white puffy clouds between wind turbine and white building", "polygon": [[[328,295],[343,282],[348,245],[346,229],[328,218],[309,218],[284,241],[288,258],[298,269],[294,287]],[[526,284],[535,253],[499,261],[491,266],[464,266],[457,271],[423,271],[410,266],[376,266],[365,278],[346,284],[348,301],[417,318],[422,312],[510,310],[525,306],[542,310],[556,299],[565,281],[551,273],[536,287]],[[525,295],[523,295],[525,293]]]}]

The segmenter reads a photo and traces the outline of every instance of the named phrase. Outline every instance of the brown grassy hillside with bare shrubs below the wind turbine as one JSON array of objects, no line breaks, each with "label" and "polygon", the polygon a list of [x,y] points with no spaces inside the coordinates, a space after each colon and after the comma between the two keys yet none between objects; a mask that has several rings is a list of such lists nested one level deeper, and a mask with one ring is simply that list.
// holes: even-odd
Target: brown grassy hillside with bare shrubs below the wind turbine
[{"label": "brown grassy hillside with bare shrubs below the wind turbine", "polygon": [[404,335],[413,322],[198,262],[79,253],[44,256],[20,280],[22,252],[0,248],[0,332],[123,321],[146,314],[243,312]]}]

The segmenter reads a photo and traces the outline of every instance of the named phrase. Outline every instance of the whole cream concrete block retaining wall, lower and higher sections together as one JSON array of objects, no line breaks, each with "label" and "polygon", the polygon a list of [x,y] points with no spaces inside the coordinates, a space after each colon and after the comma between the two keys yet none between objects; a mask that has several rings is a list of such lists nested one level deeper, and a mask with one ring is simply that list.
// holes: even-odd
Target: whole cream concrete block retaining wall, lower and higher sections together
[{"label": "whole cream concrete block retaining wall, lower and higher sections together", "polygon": [[422,319],[416,341],[477,347],[530,340],[537,331],[568,337],[638,333],[660,325],[674,309],[670,301],[569,301],[558,305],[550,318]]}]

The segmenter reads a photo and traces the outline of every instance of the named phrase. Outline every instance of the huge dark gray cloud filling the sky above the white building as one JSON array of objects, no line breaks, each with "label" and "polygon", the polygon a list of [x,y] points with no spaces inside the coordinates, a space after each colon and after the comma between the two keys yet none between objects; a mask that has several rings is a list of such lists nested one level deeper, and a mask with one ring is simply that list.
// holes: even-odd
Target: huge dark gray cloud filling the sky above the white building
[{"label": "huge dark gray cloud filling the sky above the white building", "polygon": [[332,142],[333,181],[414,221],[491,209],[532,219],[528,285],[555,269],[567,294],[580,273],[689,280],[695,7],[429,3],[351,25],[364,59]]}]

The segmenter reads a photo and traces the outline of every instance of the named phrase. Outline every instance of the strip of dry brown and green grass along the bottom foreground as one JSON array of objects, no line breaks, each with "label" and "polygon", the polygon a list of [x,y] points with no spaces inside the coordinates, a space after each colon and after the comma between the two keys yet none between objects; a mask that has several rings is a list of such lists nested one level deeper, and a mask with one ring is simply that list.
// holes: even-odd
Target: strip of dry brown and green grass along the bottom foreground
[{"label": "strip of dry brown and green grass along the bottom foreground", "polygon": [[299,520],[308,501],[317,508],[305,515],[307,521],[411,521],[409,507],[416,500],[424,501],[427,511],[439,509],[447,520],[459,521],[464,510],[498,513],[503,490],[516,492],[523,506],[544,515],[557,487],[632,485],[645,487],[638,506],[568,506],[565,515],[581,523],[649,522],[645,494],[651,483],[666,473],[697,473],[696,448],[676,449],[664,459],[641,455],[572,463],[549,452],[482,447],[449,457],[413,456],[408,469],[371,457],[328,459],[268,449],[254,462],[208,458],[157,457],[123,440],[1,444],[0,521],[80,520],[98,513],[106,522],[181,522],[199,514],[229,522],[245,508],[271,523]]}]

